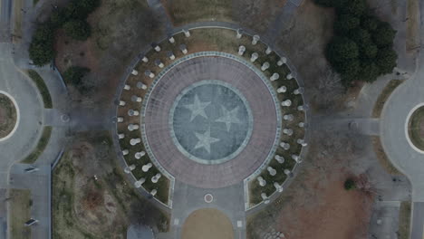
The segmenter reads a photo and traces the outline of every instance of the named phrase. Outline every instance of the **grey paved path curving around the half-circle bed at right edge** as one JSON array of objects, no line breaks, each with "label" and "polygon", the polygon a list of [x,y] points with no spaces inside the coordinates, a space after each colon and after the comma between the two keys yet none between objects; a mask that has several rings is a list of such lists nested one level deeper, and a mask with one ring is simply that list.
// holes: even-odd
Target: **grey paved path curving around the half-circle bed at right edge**
[{"label": "grey paved path curving around the half-circle bed at right edge", "polygon": [[[424,43],[424,3],[420,9],[420,43]],[[412,148],[406,139],[405,124],[415,106],[424,102],[424,53],[419,53],[417,71],[396,89],[386,102],[381,118],[381,141],[390,161],[410,178],[412,185],[412,221],[410,238],[423,238],[424,154]]]}]

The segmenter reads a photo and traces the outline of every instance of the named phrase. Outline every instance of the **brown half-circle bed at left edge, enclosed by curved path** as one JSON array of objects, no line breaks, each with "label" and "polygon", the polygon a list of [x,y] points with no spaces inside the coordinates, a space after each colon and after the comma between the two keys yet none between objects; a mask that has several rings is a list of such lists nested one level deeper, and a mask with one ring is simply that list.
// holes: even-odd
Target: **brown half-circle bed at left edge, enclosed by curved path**
[{"label": "brown half-circle bed at left edge, enclosed by curved path", "polygon": [[5,138],[16,124],[16,109],[9,97],[0,94],[0,139]]}]

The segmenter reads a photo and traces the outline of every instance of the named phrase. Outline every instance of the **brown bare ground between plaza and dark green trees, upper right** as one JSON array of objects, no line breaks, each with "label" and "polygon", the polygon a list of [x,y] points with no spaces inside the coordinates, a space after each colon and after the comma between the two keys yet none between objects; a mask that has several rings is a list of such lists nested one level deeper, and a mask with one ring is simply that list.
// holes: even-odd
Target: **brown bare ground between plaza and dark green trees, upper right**
[{"label": "brown bare ground between plaza and dark green trees, upper right", "polygon": [[342,110],[345,100],[350,97],[345,94],[340,77],[332,72],[324,55],[332,37],[333,19],[332,8],[305,0],[294,15],[293,25],[277,41],[296,66],[315,112]]}]

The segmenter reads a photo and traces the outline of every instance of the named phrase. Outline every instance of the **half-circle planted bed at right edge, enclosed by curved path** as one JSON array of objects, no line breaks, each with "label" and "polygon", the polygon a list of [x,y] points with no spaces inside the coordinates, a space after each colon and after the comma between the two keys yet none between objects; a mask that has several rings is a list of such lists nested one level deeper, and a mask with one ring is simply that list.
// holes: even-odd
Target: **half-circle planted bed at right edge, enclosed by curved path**
[{"label": "half-circle planted bed at right edge, enclosed by curved path", "polygon": [[424,106],[419,107],[410,116],[408,134],[415,147],[424,150]]}]

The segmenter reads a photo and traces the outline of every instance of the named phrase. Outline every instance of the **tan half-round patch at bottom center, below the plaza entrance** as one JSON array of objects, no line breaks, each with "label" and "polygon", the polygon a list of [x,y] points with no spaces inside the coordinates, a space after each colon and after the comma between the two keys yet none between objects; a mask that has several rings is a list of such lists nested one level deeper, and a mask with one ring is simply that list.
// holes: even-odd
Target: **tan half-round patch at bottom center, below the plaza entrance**
[{"label": "tan half-round patch at bottom center, below the plaza entrance", "polygon": [[217,209],[199,209],[188,215],[181,238],[233,239],[233,225],[228,217]]}]

